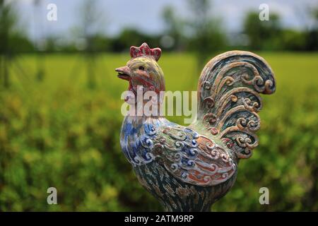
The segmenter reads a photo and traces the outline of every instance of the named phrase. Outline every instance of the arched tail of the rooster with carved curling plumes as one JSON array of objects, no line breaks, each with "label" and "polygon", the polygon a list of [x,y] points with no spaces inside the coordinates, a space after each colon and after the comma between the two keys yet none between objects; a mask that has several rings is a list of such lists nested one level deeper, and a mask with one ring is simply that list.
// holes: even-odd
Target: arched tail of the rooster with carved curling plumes
[{"label": "arched tail of the rooster with carved curling plumes", "polygon": [[211,59],[201,72],[197,121],[238,158],[248,158],[258,145],[259,93],[275,90],[273,71],[264,59],[251,52],[225,52]]}]

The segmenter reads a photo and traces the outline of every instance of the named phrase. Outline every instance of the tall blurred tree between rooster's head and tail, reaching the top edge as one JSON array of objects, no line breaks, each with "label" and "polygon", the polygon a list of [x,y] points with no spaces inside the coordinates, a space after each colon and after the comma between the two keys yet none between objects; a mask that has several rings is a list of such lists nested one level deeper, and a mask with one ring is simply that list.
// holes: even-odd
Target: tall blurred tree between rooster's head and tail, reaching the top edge
[{"label": "tall blurred tree between rooster's head and tail, reaching the top edge", "polygon": [[188,0],[192,18],[189,27],[192,31],[190,47],[197,54],[198,69],[201,70],[211,53],[225,46],[225,35],[220,28],[220,19],[211,17],[209,0]]}]

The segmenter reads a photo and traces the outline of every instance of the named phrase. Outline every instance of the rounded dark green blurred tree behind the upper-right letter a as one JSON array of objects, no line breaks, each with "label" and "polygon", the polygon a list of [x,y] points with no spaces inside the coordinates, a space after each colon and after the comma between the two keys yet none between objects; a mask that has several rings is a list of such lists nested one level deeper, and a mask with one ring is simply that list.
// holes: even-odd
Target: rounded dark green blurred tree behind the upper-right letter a
[{"label": "rounded dark green blurred tree behind the upper-right letter a", "polygon": [[244,32],[252,49],[275,49],[274,39],[281,32],[279,16],[271,13],[269,20],[259,20],[258,12],[249,12],[244,20]]}]

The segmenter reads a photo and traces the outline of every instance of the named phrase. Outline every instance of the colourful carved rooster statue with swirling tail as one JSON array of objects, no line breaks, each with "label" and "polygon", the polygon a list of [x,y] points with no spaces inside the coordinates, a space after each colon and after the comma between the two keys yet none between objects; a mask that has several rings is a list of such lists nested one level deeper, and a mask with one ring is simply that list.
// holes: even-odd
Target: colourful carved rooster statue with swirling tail
[{"label": "colourful carved rooster statue with swirling tail", "polygon": [[[129,90],[164,91],[161,50],[143,43],[131,47],[130,54],[126,66],[115,70],[129,81]],[[201,72],[193,124],[127,114],[120,135],[122,151],[139,182],[165,210],[208,211],[235,183],[240,159],[249,158],[258,145],[260,93],[275,90],[273,71],[264,59],[251,52],[225,52]]]}]

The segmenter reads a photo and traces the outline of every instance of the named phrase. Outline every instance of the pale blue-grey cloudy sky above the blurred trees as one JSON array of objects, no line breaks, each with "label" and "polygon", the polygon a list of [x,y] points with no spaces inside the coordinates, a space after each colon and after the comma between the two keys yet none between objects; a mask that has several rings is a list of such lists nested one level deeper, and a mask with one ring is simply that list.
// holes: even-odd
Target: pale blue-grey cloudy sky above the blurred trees
[{"label": "pale blue-grey cloudy sky above the blurred trees", "polygon": [[[37,37],[39,25],[43,32],[53,35],[66,35],[78,23],[78,9],[83,0],[42,0],[40,6],[34,0],[16,1],[21,23],[31,37]],[[109,35],[117,35],[122,28],[138,28],[156,33],[164,28],[162,11],[165,6],[175,7],[177,16],[191,15],[187,0],[95,0],[103,14],[101,30]],[[57,21],[48,21],[47,4],[57,5]],[[223,27],[228,32],[239,31],[247,11],[259,11],[260,4],[269,5],[269,13],[279,13],[286,27],[303,29],[312,21],[308,15],[310,8],[318,6],[318,0],[214,0],[211,1],[211,14],[222,18]]]}]

